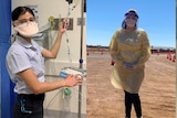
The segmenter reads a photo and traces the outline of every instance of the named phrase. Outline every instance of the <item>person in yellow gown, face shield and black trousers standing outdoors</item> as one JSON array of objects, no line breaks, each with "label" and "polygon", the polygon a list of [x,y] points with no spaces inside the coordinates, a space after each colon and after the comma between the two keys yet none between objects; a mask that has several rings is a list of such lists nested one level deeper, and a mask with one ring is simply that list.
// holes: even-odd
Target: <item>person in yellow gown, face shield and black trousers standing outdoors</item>
[{"label": "person in yellow gown, face shield and black trousers standing outdoors", "polygon": [[125,93],[125,118],[131,118],[132,105],[136,117],[143,118],[138,92],[144,79],[145,62],[150,56],[148,35],[137,28],[137,20],[136,10],[128,10],[122,29],[114,33],[110,43],[110,53],[115,62],[111,83]]}]

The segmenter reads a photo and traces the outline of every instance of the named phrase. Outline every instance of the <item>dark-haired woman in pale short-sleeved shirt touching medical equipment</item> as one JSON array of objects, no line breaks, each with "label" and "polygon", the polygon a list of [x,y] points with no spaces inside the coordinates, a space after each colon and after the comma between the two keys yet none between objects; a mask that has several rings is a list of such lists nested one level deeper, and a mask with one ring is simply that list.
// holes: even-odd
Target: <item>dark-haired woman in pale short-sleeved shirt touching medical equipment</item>
[{"label": "dark-haired woman in pale short-sleeved shirt touching medical equipment", "polygon": [[64,24],[59,28],[58,36],[51,50],[40,46],[32,36],[39,31],[33,11],[28,7],[18,7],[12,11],[12,23],[18,32],[7,54],[7,68],[11,81],[15,83],[18,94],[13,118],[43,118],[44,93],[82,83],[77,75],[69,75],[63,81],[45,82],[44,57],[55,58],[61,45]]}]

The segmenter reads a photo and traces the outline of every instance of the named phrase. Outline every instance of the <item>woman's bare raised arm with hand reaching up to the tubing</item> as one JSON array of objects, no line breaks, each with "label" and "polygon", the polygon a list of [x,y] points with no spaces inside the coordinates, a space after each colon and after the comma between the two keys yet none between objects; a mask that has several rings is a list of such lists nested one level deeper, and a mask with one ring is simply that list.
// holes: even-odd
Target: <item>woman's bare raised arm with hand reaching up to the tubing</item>
[{"label": "woman's bare raised arm with hand reaching up to the tubing", "polygon": [[65,24],[65,21],[63,21],[60,24],[58,36],[55,39],[55,42],[54,42],[52,49],[51,50],[42,49],[42,55],[44,57],[48,57],[48,58],[55,58],[56,57],[56,55],[59,53],[60,45],[61,45],[62,35],[65,32],[64,24]]}]

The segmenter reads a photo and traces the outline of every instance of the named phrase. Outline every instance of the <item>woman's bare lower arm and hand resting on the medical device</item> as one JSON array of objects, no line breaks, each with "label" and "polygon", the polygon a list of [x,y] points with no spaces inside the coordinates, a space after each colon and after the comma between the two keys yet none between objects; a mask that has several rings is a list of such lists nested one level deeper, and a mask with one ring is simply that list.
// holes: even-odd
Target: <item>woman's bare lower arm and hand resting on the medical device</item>
[{"label": "woman's bare lower arm and hand resting on the medical device", "polygon": [[64,86],[75,86],[82,83],[82,78],[76,75],[70,75],[67,78],[58,82],[39,82],[32,68],[28,68],[18,73],[24,79],[25,84],[33,90],[34,94],[42,94],[45,92],[54,90]]}]

